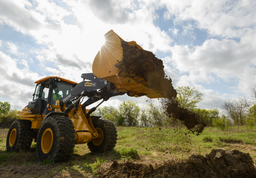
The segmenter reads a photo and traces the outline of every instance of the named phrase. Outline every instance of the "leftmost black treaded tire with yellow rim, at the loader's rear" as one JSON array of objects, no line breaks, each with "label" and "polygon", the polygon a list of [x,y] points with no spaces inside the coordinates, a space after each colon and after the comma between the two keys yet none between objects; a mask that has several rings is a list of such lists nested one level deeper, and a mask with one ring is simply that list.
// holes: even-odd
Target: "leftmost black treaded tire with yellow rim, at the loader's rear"
[{"label": "leftmost black treaded tire with yellow rim, at the loader's rear", "polygon": [[7,152],[27,152],[29,150],[35,136],[35,132],[31,128],[31,125],[32,122],[30,120],[23,119],[15,120],[12,123],[6,139]]}]

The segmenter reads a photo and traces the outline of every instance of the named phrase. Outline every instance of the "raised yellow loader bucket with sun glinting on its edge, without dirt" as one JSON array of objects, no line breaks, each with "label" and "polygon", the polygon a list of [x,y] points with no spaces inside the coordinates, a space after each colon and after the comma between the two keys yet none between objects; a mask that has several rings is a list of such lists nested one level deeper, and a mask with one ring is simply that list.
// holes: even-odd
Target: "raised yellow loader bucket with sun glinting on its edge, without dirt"
[{"label": "raised yellow loader bucket with sun glinting on its edge, without dirt", "polygon": [[[120,69],[115,67],[123,59],[123,48],[121,42],[124,41],[113,30],[105,34],[105,44],[96,55],[92,70],[98,78],[103,78],[115,84],[115,88],[120,92],[128,92],[129,96],[147,96],[148,98],[162,98],[163,95],[154,89],[147,87],[144,78],[135,74],[120,73]],[[129,41],[130,46],[137,46],[142,49],[135,41]]]}]

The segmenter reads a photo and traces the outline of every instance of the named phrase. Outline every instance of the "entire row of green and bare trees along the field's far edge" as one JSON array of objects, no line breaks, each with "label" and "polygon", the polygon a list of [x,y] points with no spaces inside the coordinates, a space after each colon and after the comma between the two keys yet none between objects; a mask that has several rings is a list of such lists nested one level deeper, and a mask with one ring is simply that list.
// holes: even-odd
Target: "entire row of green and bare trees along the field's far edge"
[{"label": "entire row of green and bare trees along the field's far edge", "polygon": [[[225,113],[218,109],[200,109],[197,104],[202,101],[202,94],[198,89],[178,87],[176,100],[181,107],[193,110],[204,118],[208,126],[225,127],[230,125],[254,127],[256,125],[256,88],[251,89],[251,99],[228,99],[222,104]],[[12,109],[9,102],[0,102],[0,127],[10,127],[15,119],[19,119],[18,110]],[[99,107],[93,113],[109,119],[116,126],[124,127],[168,127],[181,124],[174,118],[168,117],[163,108],[148,104],[139,107],[137,102],[122,102],[118,108],[113,106]]]}]

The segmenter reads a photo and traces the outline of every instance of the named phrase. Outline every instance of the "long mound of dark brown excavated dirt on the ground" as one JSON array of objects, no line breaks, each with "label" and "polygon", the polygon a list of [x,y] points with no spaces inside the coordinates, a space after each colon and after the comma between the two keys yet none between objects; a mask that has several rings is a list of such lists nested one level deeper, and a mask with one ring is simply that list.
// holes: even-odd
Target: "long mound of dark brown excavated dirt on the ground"
[{"label": "long mound of dark brown excavated dirt on the ground", "polygon": [[213,149],[205,157],[192,155],[184,162],[160,165],[114,161],[100,178],[256,178],[256,169],[248,153]]}]

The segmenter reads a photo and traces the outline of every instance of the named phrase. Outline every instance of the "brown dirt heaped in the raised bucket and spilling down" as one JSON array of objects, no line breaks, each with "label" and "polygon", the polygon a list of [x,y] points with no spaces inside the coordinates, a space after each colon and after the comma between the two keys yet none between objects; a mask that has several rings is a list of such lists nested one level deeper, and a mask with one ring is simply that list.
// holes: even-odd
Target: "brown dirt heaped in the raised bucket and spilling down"
[{"label": "brown dirt heaped in the raised bucket and spilling down", "polygon": [[[180,107],[178,102],[174,100],[177,96],[176,90],[173,88],[171,78],[164,72],[163,61],[156,58],[155,54],[150,51],[138,49],[128,45],[127,42],[121,42],[123,47],[123,60],[116,67],[120,69],[120,73],[135,74],[144,78],[142,82],[150,89],[155,89],[168,98],[163,100],[162,105],[166,114],[174,119],[185,122],[185,126],[193,132],[202,132],[206,124],[198,114],[193,111]],[[134,80],[136,80],[134,76]]]}]

